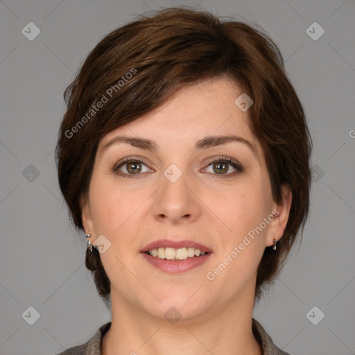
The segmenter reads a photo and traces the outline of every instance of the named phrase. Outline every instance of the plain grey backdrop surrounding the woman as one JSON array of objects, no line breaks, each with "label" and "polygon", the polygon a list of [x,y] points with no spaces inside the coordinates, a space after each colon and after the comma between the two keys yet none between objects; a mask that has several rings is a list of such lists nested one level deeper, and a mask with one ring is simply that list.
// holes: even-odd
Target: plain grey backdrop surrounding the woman
[{"label": "plain grey backdrop surrounding the woman", "polygon": [[[254,318],[291,355],[355,354],[355,3],[198,1],[0,1],[1,355],[56,354],[110,321],[58,187],[62,93],[103,35],[182,4],[252,21],[275,40],[314,141],[304,239]],[[33,41],[21,33],[30,21],[41,31]],[[314,21],[325,31],[316,41]],[[21,316],[29,306],[40,313],[33,325]],[[313,306],[325,315],[318,325],[306,317]]]}]

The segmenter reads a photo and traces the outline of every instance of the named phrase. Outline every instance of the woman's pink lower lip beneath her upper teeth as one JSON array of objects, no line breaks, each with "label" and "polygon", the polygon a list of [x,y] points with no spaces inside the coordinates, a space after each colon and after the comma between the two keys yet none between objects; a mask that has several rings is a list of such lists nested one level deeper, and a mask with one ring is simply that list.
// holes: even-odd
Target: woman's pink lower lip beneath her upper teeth
[{"label": "woman's pink lower lip beneath her upper teeth", "polygon": [[187,259],[182,261],[173,261],[160,259],[158,257],[152,257],[151,255],[148,255],[145,252],[141,253],[144,259],[146,259],[146,261],[155,266],[155,268],[158,268],[159,270],[162,270],[164,272],[171,272],[174,274],[189,271],[193,268],[196,268],[197,266],[202,265],[202,263],[205,263],[207,261],[210,254],[211,252],[205,255],[201,255],[200,257],[188,257]]}]

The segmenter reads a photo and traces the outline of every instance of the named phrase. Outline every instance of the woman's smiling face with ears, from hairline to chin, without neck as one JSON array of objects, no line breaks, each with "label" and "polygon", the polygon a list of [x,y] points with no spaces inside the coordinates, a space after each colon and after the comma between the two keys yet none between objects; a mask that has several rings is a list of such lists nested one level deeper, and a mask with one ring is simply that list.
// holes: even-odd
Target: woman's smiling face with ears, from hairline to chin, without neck
[{"label": "woman's smiling face with ears, from hairline to chin, without neck", "polygon": [[[83,223],[99,238],[113,304],[185,319],[252,307],[291,199],[272,200],[248,110],[234,103],[241,94],[230,80],[207,80],[101,139]],[[192,257],[198,250],[207,254]]]}]

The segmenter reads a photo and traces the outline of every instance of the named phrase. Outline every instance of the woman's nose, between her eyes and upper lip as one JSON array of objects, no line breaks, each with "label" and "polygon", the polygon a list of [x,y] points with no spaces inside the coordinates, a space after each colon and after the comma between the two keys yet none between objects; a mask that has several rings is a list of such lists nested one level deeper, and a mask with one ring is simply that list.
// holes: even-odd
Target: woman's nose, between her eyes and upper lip
[{"label": "woman's nose, between her eyes and upper lip", "polygon": [[201,202],[196,193],[198,188],[193,183],[193,179],[188,178],[188,173],[183,173],[173,166],[171,169],[167,168],[164,174],[162,173],[159,182],[160,188],[157,189],[153,207],[157,220],[184,224],[199,218]]}]

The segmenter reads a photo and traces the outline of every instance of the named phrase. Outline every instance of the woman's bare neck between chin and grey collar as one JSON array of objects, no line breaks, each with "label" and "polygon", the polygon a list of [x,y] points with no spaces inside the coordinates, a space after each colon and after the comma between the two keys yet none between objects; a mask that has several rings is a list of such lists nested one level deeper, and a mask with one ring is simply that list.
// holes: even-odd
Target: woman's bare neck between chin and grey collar
[{"label": "woman's bare neck between chin and grey collar", "polygon": [[102,355],[262,355],[252,333],[250,295],[245,295],[245,302],[233,300],[174,323],[122,300],[113,288],[111,298],[112,324],[103,337]]}]

